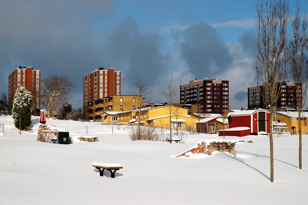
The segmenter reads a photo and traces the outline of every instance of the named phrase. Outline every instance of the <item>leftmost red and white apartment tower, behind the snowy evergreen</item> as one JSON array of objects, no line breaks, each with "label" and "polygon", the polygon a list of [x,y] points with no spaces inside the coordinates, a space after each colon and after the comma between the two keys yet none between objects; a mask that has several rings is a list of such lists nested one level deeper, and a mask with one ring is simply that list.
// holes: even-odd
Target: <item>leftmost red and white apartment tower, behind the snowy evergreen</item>
[{"label": "leftmost red and white apartment tower, behind the snowy evergreen", "polygon": [[41,96],[41,71],[34,70],[32,67],[16,68],[9,75],[9,107],[13,106],[14,92],[20,86],[24,86],[33,95],[34,105],[40,109]]}]

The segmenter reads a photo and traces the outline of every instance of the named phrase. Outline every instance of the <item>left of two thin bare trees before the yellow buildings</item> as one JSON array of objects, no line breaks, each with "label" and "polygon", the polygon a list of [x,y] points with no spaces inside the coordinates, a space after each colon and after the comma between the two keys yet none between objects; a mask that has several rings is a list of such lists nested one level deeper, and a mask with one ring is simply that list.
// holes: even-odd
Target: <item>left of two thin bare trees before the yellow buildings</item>
[{"label": "left of two thin bare trees before the yellow buildings", "polygon": [[[144,81],[140,80],[138,78],[138,76],[136,76],[136,80],[135,80],[135,82],[133,82],[133,84],[135,86],[135,89],[131,90],[129,93],[131,95],[136,96],[136,98],[137,98],[135,100],[136,105],[138,105],[138,113],[139,113],[137,140],[140,140],[141,139],[141,137],[140,137],[140,120],[141,120],[141,116],[142,116],[142,111],[143,111],[144,104],[146,102],[151,102],[152,96],[150,96],[150,95],[151,95],[152,92],[148,92],[148,85],[147,85],[147,83],[145,83]],[[137,118],[137,114],[138,113],[136,113],[136,118]]]}]

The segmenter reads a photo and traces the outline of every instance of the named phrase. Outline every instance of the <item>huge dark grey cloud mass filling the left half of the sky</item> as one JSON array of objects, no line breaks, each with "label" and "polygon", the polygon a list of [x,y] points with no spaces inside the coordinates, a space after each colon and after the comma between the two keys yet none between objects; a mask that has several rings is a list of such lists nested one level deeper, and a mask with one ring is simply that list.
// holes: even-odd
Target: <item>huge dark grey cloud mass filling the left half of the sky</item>
[{"label": "huge dark grey cloud mass filling the left half of the sky", "polygon": [[[136,75],[153,85],[169,59],[159,51],[160,36],[141,33],[132,18],[114,27],[113,10],[113,0],[2,2],[0,93],[7,92],[15,66],[39,69],[42,77],[62,72],[72,76],[75,107],[82,105],[83,76],[99,67],[122,71],[127,85]],[[126,90],[122,86],[123,94]]]}]

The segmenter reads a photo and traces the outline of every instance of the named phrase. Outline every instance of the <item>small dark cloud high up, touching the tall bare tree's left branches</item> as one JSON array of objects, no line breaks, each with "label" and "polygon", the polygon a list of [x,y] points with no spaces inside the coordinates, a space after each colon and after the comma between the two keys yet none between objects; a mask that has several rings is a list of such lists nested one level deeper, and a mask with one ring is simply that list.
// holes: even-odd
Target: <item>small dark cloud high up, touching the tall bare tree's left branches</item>
[{"label": "small dark cloud high up, touching the tall bare tree's left branches", "polygon": [[238,41],[246,55],[252,55],[253,48],[256,47],[257,39],[256,30],[246,31],[241,35]]}]

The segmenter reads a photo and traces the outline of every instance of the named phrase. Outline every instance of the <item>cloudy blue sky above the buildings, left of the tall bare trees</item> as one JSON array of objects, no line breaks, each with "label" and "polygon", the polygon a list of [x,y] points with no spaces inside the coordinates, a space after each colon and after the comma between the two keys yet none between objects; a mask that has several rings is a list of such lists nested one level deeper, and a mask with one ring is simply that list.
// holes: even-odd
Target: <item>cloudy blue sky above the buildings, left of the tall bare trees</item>
[{"label": "cloudy blue sky above the buildings, left of the tall bare trees", "polygon": [[[297,1],[290,1],[291,9]],[[299,1],[301,9],[308,1]],[[82,77],[98,67],[122,72],[122,94],[136,74],[156,100],[171,73],[229,80],[233,108],[247,107],[254,86],[254,0],[15,0],[0,7],[0,92],[17,66],[42,77],[64,72],[83,104]],[[26,11],[26,12],[25,12]],[[241,40],[240,40],[241,39]]]}]

